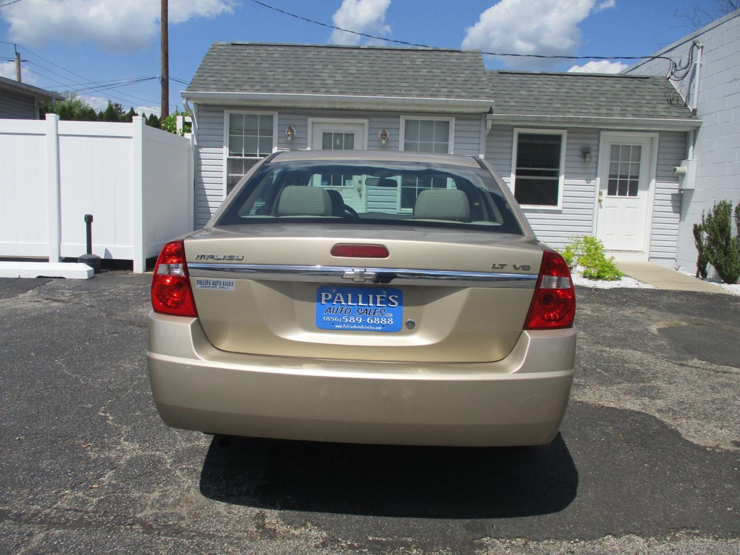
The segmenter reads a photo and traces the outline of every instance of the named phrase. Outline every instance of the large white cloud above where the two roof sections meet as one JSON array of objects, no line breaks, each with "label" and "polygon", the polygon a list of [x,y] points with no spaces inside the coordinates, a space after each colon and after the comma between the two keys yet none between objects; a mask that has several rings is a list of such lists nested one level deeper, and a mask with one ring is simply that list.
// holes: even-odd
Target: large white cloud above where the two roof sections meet
[{"label": "large white cloud above where the two roof sections meet", "polygon": [[[463,48],[513,54],[573,55],[581,44],[578,24],[614,0],[500,0],[465,29]],[[512,63],[514,58],[504,58]],[[556,64],[516,58],[517,65]]]}]

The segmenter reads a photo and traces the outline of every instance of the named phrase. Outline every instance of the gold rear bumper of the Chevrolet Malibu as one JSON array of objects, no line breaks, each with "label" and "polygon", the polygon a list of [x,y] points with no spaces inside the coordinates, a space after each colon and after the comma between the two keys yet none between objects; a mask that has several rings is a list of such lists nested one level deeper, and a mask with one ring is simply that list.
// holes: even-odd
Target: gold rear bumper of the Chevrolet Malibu
[{"label": "gold rear bumper of the Chevrolet Malibu", "polygon": [[307,360],[215,349],[197,318],[149,314],[164,422],[218,434],[348,443],[541,445],[573,382],[575,330],[522,332],[495,363]]}]

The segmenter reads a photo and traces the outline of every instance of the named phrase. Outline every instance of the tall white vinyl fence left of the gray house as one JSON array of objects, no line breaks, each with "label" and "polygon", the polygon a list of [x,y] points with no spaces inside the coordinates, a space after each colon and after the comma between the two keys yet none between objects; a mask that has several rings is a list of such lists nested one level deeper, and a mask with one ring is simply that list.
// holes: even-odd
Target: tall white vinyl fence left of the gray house
[{"label": "tall white vinyl fence left of the gray house", "polygon": [[189,138],[131,124],[0,119],[0,256],[147,258],[193,229]]}]

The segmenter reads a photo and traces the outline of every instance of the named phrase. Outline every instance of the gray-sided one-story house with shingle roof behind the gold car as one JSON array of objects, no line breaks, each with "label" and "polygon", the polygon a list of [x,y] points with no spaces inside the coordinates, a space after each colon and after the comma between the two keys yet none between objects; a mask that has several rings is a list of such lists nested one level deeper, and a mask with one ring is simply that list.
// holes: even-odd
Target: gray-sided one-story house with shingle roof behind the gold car
[{"label": "gray-sided one-story house with shingle roof behind the gold car", "polygon": [[491,71],[475,50],[215,43],[182,94],[199,225],[276,149],[453,152],[490,162],[551,246],[596,235],[622,260],[676,264],[673,167],[701,121],[665,78]]}]

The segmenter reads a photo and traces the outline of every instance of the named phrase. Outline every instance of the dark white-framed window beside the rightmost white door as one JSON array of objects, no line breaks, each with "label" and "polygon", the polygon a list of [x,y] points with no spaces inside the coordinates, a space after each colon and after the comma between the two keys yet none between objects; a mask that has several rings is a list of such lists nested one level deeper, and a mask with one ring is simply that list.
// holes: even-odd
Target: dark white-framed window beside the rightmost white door
[{"label": "dark white-framed window beside the rightmost white door", "polygon": [[514,141],[513,177],[517,202],[529,206],[560,206],[565,132],[517,132]]}]

